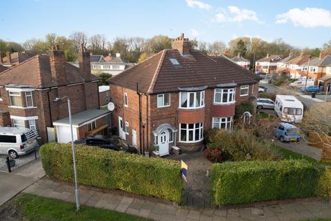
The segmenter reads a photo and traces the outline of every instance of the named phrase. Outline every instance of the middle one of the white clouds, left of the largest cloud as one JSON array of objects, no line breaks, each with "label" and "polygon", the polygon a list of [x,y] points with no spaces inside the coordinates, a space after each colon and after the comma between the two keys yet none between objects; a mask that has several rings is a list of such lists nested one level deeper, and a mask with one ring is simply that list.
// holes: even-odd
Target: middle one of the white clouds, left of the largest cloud
[{"label": "middle one of the white clouds, left of the largest cloud", "polygon": [[228,6],[227,9],[219,8],[215,20],[219,23],[226,21],[241,22],[241,21],[255,21],[257,23],[263,23],[257,17],[257,12],[248,9],[240,9],[236,6]]}]

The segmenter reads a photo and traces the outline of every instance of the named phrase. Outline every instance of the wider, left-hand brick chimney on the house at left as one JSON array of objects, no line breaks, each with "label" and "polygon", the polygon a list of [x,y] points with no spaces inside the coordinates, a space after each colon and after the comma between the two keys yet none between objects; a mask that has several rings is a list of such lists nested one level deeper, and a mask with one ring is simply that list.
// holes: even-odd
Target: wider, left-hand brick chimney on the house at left
[{"label": "wider, left-hand brick chimney on the house at left", "polygon": [[53,46],[50,51],[50,70],[52,73],[52,79],[57,82],[58,85],[67,84],[64,52],[60,50],[58,44]]}]

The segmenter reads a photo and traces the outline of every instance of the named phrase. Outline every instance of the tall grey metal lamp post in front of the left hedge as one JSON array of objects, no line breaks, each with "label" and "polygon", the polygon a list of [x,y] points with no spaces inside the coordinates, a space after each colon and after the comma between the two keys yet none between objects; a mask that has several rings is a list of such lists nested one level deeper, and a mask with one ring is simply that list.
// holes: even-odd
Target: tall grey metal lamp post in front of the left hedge
[{"label": "tall grey metal lamp post in front of the left hedge", "polygon": [[62,98],[57,97],[54,99],[53,103],[59,103],[62,102],[63,99],[68,100],[68,112],[69,112],[69,124],[70,124],[70,131],[71,131],[71,148],[72,148],[72,160],[74,162],[74,186],[75,186],[75,196],[76,196],[76,209],[79,210],[79,189],[77,184],[77,169],[76,169],[76,157],[74,155],[74,133],[72,131],[72,119],[71,119],[71,102],[68,96],[64,96]]}]

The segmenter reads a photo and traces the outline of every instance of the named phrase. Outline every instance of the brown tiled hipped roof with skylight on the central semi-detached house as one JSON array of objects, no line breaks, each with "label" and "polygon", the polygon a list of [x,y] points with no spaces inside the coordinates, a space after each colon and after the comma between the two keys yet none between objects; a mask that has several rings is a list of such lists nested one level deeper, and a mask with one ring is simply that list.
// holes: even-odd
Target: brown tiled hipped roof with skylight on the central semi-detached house
[{"label": "brown tiled hipped roof with skylight on the central semi-detached house", "polygon": [[[179,65],[170,59],[177,59]],[[181,55],[179,50],[165,49],[145,61],[124,70],[108,82],[143,93],[178,91],[179,88],[192,88],[217,84],[256,84],[257,75],[234,64],[225,57],[210,57],[198,50],[190,55]]]}]

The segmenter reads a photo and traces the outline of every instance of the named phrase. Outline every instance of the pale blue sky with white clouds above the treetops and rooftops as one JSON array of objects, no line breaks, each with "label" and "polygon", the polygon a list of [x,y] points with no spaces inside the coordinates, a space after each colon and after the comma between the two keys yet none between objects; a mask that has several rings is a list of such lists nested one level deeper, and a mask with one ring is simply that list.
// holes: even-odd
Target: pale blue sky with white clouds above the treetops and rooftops
[{"label": "pale blue sky with white clouds above the treetops and rooftops", "polygon": [[208,42],[249,36],[321,47],[331,39],[330,8],[329,0],[0,0],[0,39],[23,43],[72,31],[110,40],[184,32]]}]

